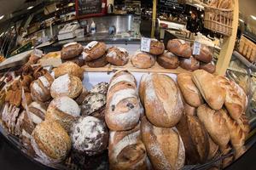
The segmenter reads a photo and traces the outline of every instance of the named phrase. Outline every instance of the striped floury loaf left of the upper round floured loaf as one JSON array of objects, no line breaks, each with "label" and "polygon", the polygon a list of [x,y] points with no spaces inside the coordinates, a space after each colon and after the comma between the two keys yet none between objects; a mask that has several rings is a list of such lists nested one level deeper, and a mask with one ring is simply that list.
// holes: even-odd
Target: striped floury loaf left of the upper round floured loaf
[{"label": "striped floury loaf left of the upper round floured loaf", "polygon": [[32,82],[30,85],[32,99],[41,102],[49,100],[51,98],[50,86],[53,82],[54,78],[49,73]]}]

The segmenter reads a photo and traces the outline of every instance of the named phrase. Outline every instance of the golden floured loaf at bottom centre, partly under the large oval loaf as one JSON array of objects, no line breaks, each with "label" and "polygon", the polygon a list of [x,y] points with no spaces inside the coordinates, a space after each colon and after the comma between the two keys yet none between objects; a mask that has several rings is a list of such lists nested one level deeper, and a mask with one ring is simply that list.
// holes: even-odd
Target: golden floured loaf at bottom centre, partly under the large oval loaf
[{"label": "golden floured loaf at bottom centre, partly under the large oval loaf", "polygon": [[155,170],[183,168],[185,149],[176,127],[154,127],[143,116],[141,131],[143,143]]}]

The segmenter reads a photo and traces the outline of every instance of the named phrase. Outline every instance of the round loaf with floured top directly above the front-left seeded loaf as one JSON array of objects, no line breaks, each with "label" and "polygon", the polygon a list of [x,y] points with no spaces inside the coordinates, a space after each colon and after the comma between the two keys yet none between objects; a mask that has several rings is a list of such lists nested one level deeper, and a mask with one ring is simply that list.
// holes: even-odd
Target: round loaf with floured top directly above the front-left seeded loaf
[{"label": "round loaf with floured top directly above the front-left seeded loaf", "polygon": [[50,102],[45,119],[59,122],[67,132],[70,132],[73,122],[80,116],[80,111],[79,105],[73,99],[62,96]]}]

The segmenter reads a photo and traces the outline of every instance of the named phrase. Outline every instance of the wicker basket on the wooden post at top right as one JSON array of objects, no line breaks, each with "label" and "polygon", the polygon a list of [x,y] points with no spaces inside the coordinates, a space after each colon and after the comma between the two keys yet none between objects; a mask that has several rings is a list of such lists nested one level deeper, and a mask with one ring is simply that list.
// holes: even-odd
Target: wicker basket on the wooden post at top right
[{"label": "wicker basket on the wooden post at top right", "polygon": [[204,26],[224,36],[231,36],[233,9],[205,7]]}]

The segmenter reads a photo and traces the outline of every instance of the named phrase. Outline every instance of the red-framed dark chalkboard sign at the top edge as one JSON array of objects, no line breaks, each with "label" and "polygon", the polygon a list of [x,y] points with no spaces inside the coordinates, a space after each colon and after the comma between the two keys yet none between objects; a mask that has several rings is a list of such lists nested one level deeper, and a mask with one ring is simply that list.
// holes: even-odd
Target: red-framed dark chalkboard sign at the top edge
[{"label": "red-framed dark chalkboard sign at the top edge", "polygon": [[107,0],[76,0],[78,18],[100,16],[105,14]]}]

